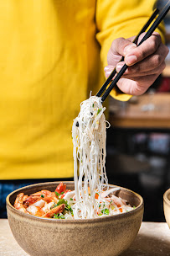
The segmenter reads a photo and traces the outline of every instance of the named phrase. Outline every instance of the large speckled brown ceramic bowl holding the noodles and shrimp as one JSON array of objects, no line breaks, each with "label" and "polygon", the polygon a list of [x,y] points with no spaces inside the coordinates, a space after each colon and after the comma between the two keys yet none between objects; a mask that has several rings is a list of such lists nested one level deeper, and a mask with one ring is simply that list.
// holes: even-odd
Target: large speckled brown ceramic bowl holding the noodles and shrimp
[{"label": "large speckled brown ceramic bowl holding the noodles and shrimp", "polygon": [[[74,189],[74,182],[64,182]],[[7,197],[8,221],[13,236],[32,256],[116,256],[130,246],[142,223],[143,200],[129,189],[119,196],[137,208],[116,216],[88,220],[59,220],[31,216],[13,207],[18,193],[33,194],[41,189],[54,191],[59,182],[33,184]],[[110,185],[110,188],[116,187]]]}]

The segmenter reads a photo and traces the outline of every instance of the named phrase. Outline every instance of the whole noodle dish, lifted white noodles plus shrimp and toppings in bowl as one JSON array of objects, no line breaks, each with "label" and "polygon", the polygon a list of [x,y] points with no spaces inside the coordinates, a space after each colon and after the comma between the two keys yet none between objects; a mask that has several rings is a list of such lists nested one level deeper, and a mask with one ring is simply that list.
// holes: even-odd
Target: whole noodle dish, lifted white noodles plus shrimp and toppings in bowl
[{"label": "whole noodle dish, lifted white noodles plus shrimp and toppings in bowl", "polygon": [[[54,192],[20,193],[14,207],[34,216],[56,219],[90,219],[131,211],[126,200],[109,189],[106,176],[106,121],[101,98],[91,96],[80,104],[72,127],[75,190],[60,183]],[[110,125],[110,124],[109,124]]]}]

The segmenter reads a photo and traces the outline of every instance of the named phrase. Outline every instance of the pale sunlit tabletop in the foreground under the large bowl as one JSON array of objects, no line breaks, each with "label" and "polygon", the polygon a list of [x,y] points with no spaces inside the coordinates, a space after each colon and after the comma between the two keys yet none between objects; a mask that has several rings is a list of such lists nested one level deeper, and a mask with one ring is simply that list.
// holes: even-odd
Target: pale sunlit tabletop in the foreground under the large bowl
[{"label": "pale sunlit tabletop in the foreground under the large bowl", "polygon": [[[0,255],[28,256],[15,241],[8,220],[4,219],[0,220]],[[142,222],[136,240],[125,253],[121,254],[121,256],[144,255],[170,256],[170,229],[167,227],[167,223]]]}]

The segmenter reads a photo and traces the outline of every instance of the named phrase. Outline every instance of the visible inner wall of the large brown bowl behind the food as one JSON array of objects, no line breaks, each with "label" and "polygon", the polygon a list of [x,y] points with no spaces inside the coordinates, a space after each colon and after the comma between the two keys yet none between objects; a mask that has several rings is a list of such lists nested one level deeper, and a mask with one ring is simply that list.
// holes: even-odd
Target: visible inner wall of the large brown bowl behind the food
[{"label": "visible inner wall of the large brown bowl behind the food", "polygon": [[[41,183],[41,184],[32,184],[32,185],[28,185],[27,187],[17,189],[13,191],[10,195],[8,195],[7,203],[9,205],[13,205],[19,193],[23,192],[25,195],[31,195],[42,189],[48,189],[49,191],[54,191],[58,184],[59,182],[48,182],[48,183]],[[64,184],[66,184],[67,189],[70,189],[70,190],[75,189],[75,184],[73,181],[64,182]],[[116,187],[116,185],[110,184],[109,187],[114,188]],[[114,192],[114,195],[120,196],[122,199],[127,200],[127,202],[130,203],[131,206],[137,207],[139,205],[142,205],[143,203],[142,197],[129,189],[121,188],[121,190]]]}]

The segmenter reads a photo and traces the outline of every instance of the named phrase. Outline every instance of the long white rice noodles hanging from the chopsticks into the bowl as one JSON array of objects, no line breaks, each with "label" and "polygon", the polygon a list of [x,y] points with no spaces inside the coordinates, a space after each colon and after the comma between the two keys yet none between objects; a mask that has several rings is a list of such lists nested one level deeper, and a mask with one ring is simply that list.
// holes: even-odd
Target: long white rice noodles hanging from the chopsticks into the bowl
[{"label": "long white rice noodles hanging from the chopsticks into the bowl", "polygon": [[[80,114],[73,123],[75,219],[97,217],[100,193],[108,189],[105,109],[101,98],[91,96],[80,104]],[[95,200],[96,192],[99,200]]]}]

